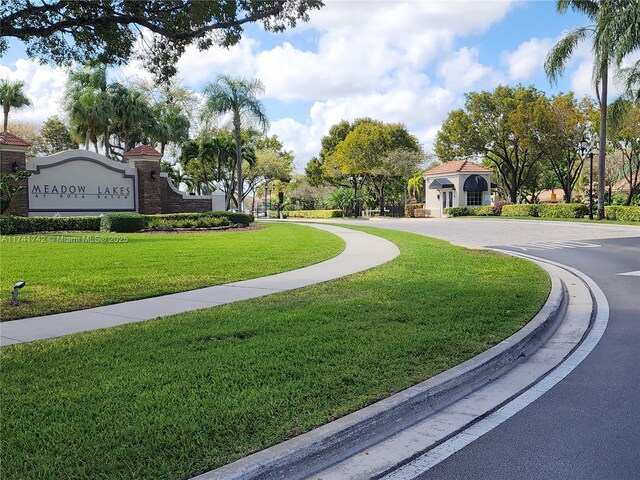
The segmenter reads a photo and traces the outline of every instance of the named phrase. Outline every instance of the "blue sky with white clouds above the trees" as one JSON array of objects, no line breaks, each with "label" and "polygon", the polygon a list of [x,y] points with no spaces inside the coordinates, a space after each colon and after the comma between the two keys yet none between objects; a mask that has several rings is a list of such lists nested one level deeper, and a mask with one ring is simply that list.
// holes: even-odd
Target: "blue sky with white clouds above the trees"
[{"label": "blue sky with white clouds above the trees", "polygon": [[[464,105],[465,92],[522,83],[549,94],[594,94],[588,43],[557,85],[545,77],[549,48],[563,32],[588,24],[555,6],[555,0],[325,0],[293,30],[273,34],[250,26],[230,49],[190,47],[178,78],[196,91],[221,73],[259,78],[270,133],[294,152],[298,170],[342,119],[404,123],[429,151],[447,114]],[[11,118],[63,117],[66,77],[63,68],[28,59],[12,40],[0,59],[0,78],[23,80],[32,106]],[[110,80],[135,77],[148,77],[138,61],[109,71]]]}]

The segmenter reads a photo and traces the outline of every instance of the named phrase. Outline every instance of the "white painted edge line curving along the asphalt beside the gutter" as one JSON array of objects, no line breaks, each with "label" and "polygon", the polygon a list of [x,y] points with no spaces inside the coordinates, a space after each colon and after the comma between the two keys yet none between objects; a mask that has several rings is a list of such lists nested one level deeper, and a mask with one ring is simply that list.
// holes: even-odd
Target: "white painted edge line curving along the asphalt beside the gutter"
[{"label": "white painted edge line curving along the asphalt beside the gutter", "polygon": [[[503,253],[511,253],[517,256],[525,258],[535,259],[541,262],[547,262],[552,265],[556,265],[560,268],[564,268],[571,273],[580,277],[587,286],[591,289],[597,305],[597,314],[593,322],[593,326],[589,331],[584,341],[569,355],[564,362],[558,365],[551,371],[546,377],[533,385],[529,390],[520,394],[511,402],[504,405],[502,408],[496,410],[491,415],[475,423],[471,427],[463,430],[459,434],[451,437],[446,442],[438,445],[437,447],[429,450],[424,455],[418,457],[414,461],[407,463],[400,467],[398,470],[391,472],[383,477],[383,480],[412,480],[432,467],[436,466],[440,462],[449,458],[454,453],[462,450],[464,447],[480,438],[485,433],[490,432],[501,423],[505,422],[527,405],[533,403],[540,398],[544,393],[549,391],[554,385],[560,382],[563,378],[569,375],[574,368],[576,368],[591,351],[598,344],[604,331],[607,328],[609,322],[609,302],[604,292],[598,287],[598,285],[587,275],[575,268],[563,265],[557,262],[552,262],[544,258],[534,257],[522,253],[507,252],[505,250],[495,249]],[[638,272],[629,272],[638,274]]]}]

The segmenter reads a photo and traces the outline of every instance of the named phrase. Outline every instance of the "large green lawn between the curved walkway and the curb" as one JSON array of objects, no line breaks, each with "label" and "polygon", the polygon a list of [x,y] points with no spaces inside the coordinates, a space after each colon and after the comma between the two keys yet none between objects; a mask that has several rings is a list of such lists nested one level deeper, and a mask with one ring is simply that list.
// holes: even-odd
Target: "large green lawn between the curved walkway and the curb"
[{"label": "large green lawn between the curved walkway and the curb", "polygon": [[3,478],[186,479],[431,377],[543,305],[521,259],[397,231],[305,289],[2,349]]}]

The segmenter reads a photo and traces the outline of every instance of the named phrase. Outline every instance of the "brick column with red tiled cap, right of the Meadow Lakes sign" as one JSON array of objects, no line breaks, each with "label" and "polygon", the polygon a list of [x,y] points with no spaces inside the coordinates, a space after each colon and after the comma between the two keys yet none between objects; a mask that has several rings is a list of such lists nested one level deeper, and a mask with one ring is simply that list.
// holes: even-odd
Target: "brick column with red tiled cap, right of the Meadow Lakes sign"
[{"label": "brick column with red tiled cap, right of the Meadow Lakes sign", "polygon": [[148,145],[129,150],[125,157],[138,171],[138,212],[162,213],[160,159],[162,154]]}]

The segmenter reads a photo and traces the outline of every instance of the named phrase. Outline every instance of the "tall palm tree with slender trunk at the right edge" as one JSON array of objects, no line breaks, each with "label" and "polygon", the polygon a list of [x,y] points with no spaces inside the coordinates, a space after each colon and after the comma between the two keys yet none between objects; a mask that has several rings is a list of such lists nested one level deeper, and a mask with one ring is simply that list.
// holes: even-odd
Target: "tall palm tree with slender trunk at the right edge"
[{"label": "tall palm tree with slender trunk at the right edge", "polygon": [[[604,219],[605,158],[607,142],[607,90],[610,67],[616,65],[619,54],[616,43],[618,33],[613,25],[619,2],[615,0],[558,0],[557,9],[565,13],[569,8],[585,14],[591,22],[586,27],[576,28],[565,34],[549,51],[544,69],[552,83],[556,83],[564,72],[565,65],[579,43],[592,40],[594,54],[593,83],[600,106],[600,138],[598,147],[598,220]],[[626,47],[625,47],[626,48]]]}]

